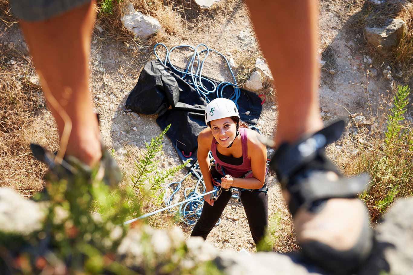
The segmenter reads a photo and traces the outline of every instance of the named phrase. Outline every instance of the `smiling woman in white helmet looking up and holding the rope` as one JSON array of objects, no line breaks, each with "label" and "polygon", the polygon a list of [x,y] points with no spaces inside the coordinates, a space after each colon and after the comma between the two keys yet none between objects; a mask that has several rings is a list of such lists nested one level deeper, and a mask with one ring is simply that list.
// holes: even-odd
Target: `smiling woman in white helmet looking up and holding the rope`
[{"label": "smiling woman in white helmet looking up and holding the rope", "polygon": [[[212,100],[205,109],[205,123],[208,127],[198,136],[198,163],[206,191],[214,189],[214,184],[228,191],[222,191],[216,201],[204,196],[206,203],[191,236],[207,238],[232,196],[229,188],[235,187],[240,191],[252,238],[260,244],[268,224],[266,147],[259,142],[257,132],[239,127],[240,115],[232,100]],[[209,151],[215,160],[212,167]]]}]

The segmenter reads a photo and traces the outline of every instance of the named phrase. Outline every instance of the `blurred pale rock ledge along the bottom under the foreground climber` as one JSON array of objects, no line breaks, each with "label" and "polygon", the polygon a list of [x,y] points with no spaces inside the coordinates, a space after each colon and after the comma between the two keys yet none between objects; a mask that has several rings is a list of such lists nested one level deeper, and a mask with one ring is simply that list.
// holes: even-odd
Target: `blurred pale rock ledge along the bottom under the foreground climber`
[{"label": "blurred pale rock ledge along the bottom under the foreground climber", "polygon": [[[0,233],[3,234],[3,241],[7,241],[4,234],[10,232],[13,232],[15,236],[34,232],[33,237],[38,236],[40,239],[47,240],[47,235],[44,235],[47,234],[47,230],[40,232],[41,234],[36,232],[42,228],[41,220],[43,220],[44,215],[42,203],[26,200],[12,189],[0,188]],[[413,198],[399,199],[394,203],[394,206],[389,208],[384,220],[374,229],[375,243],[370,257],[356,273],[352,274],[411,274],[413,266],[412,220]],[[65,222],[65,226],[66,224],[67,222]],[[56,226],[61,225],[58,223]],[[215,270],[216,273],[213,274],[230,275],[331,274],[318,268],[310,260],[304,258],[300,252],[287,254],[259,252],[248,255],[233,250],[218,251],[208,242],[204,242],[201,237],[185,239],[182,230],[177,227],[159,230],[142,223],[135,224],[124,236],[121,227],[112,224],[110,228],[112,228],[110,239],[112,241],[119,240],[120,243],[115,251],[116,255],[107,254],[103,260],[109,263],[116,261],[140,274],[204,274],[206,270]],[[20,242],[24,240],[22,238]],[[52,245],[44,246],[47,245],[47,242],[40,244],[42,246],[34,242],[34,245],[30,246],[30,242],[26,242],[26,246],[21,246],[22,253],[20,255],[28,253],[27,251],[30,252],[28,253],[30,255],[42,255],[45,253],[45,249],[56,248]],[[1,243],[0,246],[2,246]],[[17,246],[17,248],[19,247]],[[2,249],[6,253],[9,247],[3,246]],[[20,251],[17,252],[20,253]],[[50,257],[46,260],[50,267],[63,265],[64,263],[56,258],[52,252],[52,250],[47,251],[47,255]],[[18,253],[5,253],[0,255],[0,274],[17,274],[10,273],[9,267],[2,265],[1,259],[4,259],[2,258],[4,255],[10,257],[9,255],[18,255]],[[41,257],[40,260],[42,260]],[[15,261],[15,263],[19,263],[19,261]],[[39,265],[41,263],[39,260],[27,261],[27,265],[30,263],[36,263],[37,267],[42,266]],[[90,263],[90,261],[86,262],[89,268]],[[97,261],[97,263],[99,262]],[[121,265],[117,263],[112,266],[120,268]],[[16,265],[17,267],[18,265]]]}]

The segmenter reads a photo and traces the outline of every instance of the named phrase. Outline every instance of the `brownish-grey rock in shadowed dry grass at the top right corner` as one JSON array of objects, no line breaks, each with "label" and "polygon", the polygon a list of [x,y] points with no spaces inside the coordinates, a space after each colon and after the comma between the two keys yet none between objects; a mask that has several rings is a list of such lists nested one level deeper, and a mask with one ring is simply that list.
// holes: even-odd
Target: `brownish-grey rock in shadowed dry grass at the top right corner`
[{"label": "brownish-grey rock in shadowed dry grass at the top right corner", "polygon": [[406,31],[406,23],[401,19],[389,19],[384,26],[365,27],[364,35],[371,45],[382,55],[391,53],[399,44],[400,38]]}]

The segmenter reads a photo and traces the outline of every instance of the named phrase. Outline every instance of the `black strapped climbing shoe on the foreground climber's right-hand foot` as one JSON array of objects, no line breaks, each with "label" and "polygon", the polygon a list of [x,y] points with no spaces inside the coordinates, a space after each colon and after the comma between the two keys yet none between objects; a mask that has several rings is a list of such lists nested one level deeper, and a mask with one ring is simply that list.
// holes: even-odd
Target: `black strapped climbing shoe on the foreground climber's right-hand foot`
[{"label": "black strapped climbing shoe on the foreground climber's right-hand foot", "polygon": [[332,274],[349,274],[368,258],[373,246],[366,206],[357,198],[368,175],[341,175],[325,146],[344,131],[340,120],[295,143],[283,143],[270,167],[281,184],[302,253]]}]

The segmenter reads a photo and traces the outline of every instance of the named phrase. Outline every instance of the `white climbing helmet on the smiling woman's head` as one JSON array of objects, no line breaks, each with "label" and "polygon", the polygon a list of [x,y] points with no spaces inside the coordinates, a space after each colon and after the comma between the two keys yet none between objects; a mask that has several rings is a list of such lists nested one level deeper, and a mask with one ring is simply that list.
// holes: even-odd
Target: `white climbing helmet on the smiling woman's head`
[{"label": "white climbing helmet on the smiling woman's head", "polygon": [[208,103],[207,108],[205,108],[205,124],[211,120],[219,120],[224,117],[238,117],[237,106],[235,103],[228,98],[215,98],[210,103]]}]

